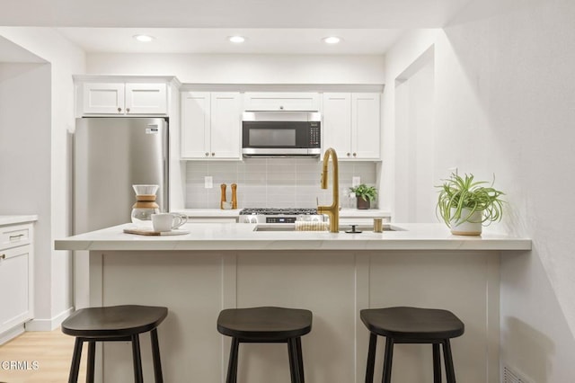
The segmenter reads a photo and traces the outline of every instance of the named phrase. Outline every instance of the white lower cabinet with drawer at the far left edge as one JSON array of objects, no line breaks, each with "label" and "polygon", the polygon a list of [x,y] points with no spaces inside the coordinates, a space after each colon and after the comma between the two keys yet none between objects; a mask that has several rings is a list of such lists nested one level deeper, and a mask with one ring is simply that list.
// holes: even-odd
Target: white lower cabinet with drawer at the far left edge
[{"label": "white lower cabinet with drawer at the far left edge", "polygon": [[32,224],[0,226],[0,344],[34,314],[32,236]]}]

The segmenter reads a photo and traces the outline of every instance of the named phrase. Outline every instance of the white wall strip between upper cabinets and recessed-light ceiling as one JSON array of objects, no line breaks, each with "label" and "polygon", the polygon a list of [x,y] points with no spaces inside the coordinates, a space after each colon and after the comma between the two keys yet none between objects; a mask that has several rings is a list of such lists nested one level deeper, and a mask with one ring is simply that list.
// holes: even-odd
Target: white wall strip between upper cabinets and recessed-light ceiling
[{"label": "white wall strip between upper cabinets and recessed-light ceiling", "polygon": [[384,83],[383,56],[366,55],[88,55],[87,73],[177,76],[184,84]]}]

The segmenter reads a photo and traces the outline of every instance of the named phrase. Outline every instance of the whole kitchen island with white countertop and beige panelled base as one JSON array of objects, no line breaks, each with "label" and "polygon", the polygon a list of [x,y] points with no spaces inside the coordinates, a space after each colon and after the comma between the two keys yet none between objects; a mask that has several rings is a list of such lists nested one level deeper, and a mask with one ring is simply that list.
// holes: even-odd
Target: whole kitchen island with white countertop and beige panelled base
[{"label": "whole kitchen island with white countertop and beige panelled base", "polygon": [[[368,332],[358,312],[390,306],[452,310],[465,323],[465,334],[452,342],[457,378],[498,382],[499,260],[531,248],[527,238],[452,236],[440,224],[346,234],[198,223],[184,226],[190,231],[184,236],[124,234],[128,226],[55,245],[90,252],[87,305],[169,307],[159,334],[164,380],[174,383],[224,381],[229,339],[217,333],[217,315],[223,308],[255,306],[314,312],[312,332],[302,338],[308,382],[364,381]],[[147,347],[143,353],[149,376]],[[106,344],[103,354],[104,381],[131,379],[128,344]],[[382,359],[376,362],[376,379],[381,379]],[[394,381],[431,382],[431,365],[429,345],[400,344]],[[287,383],[287,347],[242,345],[238,379]]]}]

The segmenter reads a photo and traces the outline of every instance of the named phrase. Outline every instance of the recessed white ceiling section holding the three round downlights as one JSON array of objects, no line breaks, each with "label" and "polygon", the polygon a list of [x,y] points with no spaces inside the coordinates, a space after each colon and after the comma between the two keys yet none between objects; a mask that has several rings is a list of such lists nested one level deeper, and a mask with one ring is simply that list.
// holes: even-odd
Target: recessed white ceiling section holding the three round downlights
[{"label": "recessed white ceiling section holding the three round downlights", "polygon": [[[402,34],[399,29],[253,29],[253,28],[59,28],[58,31],[87,52],[124,53],[243,53],[243,54],[384,54]],[[138,42],[134,35],[155,37]],[[234,44],[228,36],[246,40]],[[337,35],[337,46],[323,38]]]}]

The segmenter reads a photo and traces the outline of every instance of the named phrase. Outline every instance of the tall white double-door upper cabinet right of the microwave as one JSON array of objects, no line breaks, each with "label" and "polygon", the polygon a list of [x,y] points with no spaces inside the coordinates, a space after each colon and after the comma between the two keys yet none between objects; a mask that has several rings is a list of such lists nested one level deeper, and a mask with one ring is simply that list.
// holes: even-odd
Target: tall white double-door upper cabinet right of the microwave
[{"label": "tall white double-door upper cabinet right of the microwave", "polygon": [[340,159],[380,159],[380,94],[323,94],[323,148]]}]

